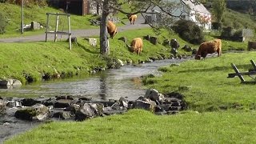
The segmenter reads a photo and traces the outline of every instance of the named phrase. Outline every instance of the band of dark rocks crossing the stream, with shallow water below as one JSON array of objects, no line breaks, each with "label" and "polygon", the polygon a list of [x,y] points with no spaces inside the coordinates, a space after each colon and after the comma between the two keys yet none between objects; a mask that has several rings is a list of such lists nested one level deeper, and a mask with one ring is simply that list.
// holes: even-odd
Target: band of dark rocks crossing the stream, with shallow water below
[{"label": "band of dark rocks crossing the stream, with shallow water below", "polygon": [[[146,90],[144,96],[134,101],[122,97],[118,100],[96,101],[93,98],[79,96],[1,98],[0,138],[4,141],[42,122],[84,121],[88,118],[122,114],[130,109],[150,110],[155,114],[176,114],[186,109],[186,102],[182,94],[160,94],[154,89]],[[15,127],[18,129],[15,130]]]}]

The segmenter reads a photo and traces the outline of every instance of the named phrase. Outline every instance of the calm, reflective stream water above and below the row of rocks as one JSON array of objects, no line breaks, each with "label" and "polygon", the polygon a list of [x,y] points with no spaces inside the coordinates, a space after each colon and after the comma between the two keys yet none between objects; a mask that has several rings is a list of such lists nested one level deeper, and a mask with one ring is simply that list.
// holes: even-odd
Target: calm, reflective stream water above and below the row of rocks
[{"label": "calm, reflective stream water above and below the row of rocks", "polygon": [[[179,63],[184,59],[166,59],[144,63],[138,66],[122,66],[116,70],[106,70],[89,78],[67,78],[31,84],[20,88],[0,89],[1,97],[54,97],[59,95],[86,96],[94,100],[119,99],[135,100],[144,96],[140,77],[145,74],[159,74],[160,66]],[[39,122],[26,122],[14,118],[15,109],[6,110],[0,116],[0,143],[6,138],[30,130]]]}]

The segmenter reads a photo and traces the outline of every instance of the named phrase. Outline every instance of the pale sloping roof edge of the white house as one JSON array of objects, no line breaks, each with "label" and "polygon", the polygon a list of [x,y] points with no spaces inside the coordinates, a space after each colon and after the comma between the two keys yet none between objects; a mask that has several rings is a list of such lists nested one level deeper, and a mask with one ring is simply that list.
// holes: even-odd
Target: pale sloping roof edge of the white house
[{"label": "pale sloping roof edge of the white house", "polygon": [[182,0],[186,4],[186,6],[189,6],[191,10],[198,11],[204,14],[210,14],[210,12],[206,9],[205,6],[202,5],[202,3],[194,3],[194,0]]}]

